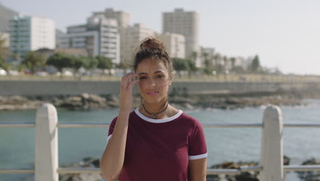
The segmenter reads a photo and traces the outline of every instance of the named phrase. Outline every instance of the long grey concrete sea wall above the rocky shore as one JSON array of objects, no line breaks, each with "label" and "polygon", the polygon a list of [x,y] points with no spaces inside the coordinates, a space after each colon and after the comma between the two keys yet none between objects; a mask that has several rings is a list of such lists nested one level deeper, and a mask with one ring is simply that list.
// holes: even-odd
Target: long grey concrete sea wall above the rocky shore
[{"label": "long grey concrete sea wall above the rocky shore", "polygon": [[[0,95],[96,95],[119,94],[120,82],[0,81]],[[137,88],[134,88],[135,92]],[[320,90],[315,83],[174,82],[170,93],[219,94]]]}]

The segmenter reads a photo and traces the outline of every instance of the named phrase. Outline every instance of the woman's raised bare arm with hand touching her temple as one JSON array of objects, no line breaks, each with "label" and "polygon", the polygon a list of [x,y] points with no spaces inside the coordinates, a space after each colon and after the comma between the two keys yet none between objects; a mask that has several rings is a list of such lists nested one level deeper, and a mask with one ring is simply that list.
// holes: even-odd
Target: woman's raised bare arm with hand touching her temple
[{"label": "woman's raised bare arm with hand touching her temple", "polygon": [[114,181],[118,178],[124,163],[129,114],[132,107],[132,88],[135,82],[137,82],[137,80],[131,81],[131,78],[136,76],[136,73],[128,73],[122,77],[120,83],[119,116],[114,127],[114,132],[111,138],[109,138],[105,152],[100,160],[103,178],[108,181]]}]

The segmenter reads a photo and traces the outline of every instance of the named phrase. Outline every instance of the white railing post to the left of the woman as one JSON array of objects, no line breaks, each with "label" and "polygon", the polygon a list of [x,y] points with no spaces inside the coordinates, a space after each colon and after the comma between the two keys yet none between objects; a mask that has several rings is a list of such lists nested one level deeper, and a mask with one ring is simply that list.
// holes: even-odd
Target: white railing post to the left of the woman
[{"label": "white railing post to the left of the woman", "polygon": [[57,110],[42,104],[36,113],[35,180],[58,181]]}]

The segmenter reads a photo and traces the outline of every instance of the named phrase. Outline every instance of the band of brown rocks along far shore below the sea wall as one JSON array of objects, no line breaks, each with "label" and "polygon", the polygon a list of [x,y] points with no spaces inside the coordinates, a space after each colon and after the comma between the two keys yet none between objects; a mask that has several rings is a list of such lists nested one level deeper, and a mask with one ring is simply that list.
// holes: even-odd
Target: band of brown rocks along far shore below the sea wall
[{"label": "band of brown rocks along far shore below the sea wall", "polygon": [[[256,95],[170,95],[172,106],[182,110],[202,108],[238,109],[245,107],[259,107],[267,104],[278,106],[306,105],[303,96],[295,93],[256,94]],[[141,99],[135,96],[134,107],[139,107]],[[0,96],[0,110],[36,109],[43,103],[51,103],[57,108],[68,110],[94,110],[117,108],[120,106],[119,95],[92,95],[83,93],[77,96],[37,96],[23,97]]]}]

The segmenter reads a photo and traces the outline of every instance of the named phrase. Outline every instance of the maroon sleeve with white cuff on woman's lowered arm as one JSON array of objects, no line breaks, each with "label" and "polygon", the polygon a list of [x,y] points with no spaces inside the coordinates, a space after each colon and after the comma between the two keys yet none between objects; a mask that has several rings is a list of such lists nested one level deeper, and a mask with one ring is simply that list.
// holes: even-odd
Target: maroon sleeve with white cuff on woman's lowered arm
[{"label": "maroon sleeve with white cuff on woman's lowered arm", "polygon": [[193,134],[191,134],[191,141],[189,143],[189,160],[196,160],[206,158],[208,153],[206,151],[206,139],[201,123],[196,120]]}]

